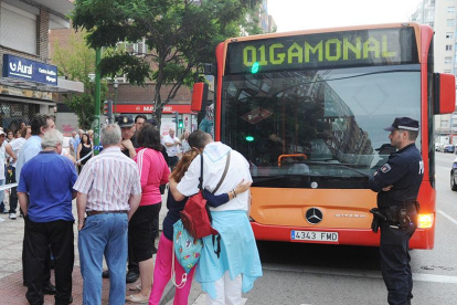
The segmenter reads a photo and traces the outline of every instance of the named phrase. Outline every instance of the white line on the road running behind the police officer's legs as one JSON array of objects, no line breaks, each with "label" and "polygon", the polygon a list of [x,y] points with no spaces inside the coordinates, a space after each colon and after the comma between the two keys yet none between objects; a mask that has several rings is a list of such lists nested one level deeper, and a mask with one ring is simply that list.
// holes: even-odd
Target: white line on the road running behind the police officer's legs
[{"label": "white line on the road running behind the police officer's legs", "polygon": [[[353,277],[369,277],[369,278],[382,278],[381,271],[369,271],[369,272],[357,272],[357,271],[326,271],[326,270],[296,270],[294,267],[275,267],[272,265],[263,266],[263,270],[272,270],[272,271],[286,271],[286,272],[299,272],[299,273],[308,273],[308,274],[322,274],[322,275],[331,275],[331,276],[353,276]],[[429,282],[429,283],[442,283],[442,284],[457,284],[457,276],[449,276],[449,275],[435,275],[435,274],[426,274],[426,273],[414,273],[413,272],[413,281],[416,282]]]}]

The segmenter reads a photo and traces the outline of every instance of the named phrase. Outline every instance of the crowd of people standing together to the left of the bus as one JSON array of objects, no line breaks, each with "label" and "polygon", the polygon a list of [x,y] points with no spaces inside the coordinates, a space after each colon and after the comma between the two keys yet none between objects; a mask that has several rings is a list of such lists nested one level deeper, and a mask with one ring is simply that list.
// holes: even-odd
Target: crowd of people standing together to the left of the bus
[{"label": "crowd of people standing together to the left of the bus", "polygon": [[[50,115],[35,115],[20,133],[0,130],[0,185],[18,180],[18,188],[9,192],[10,210],[2,204],[0,211],[15,219],[19,202],[24,218],[22,263],[29,303],[43,304],[44,294],[55,295],[55,304],[73,302],[76,221],[83,304],[102,304],[103,277],[110,281],[109,304],[159,304],[173,265],[172,227],[187,198],[198,192],[195,170],[200,168],[200,158],[195,157],[200,154],[209,156],[203,188],[212,207],[213,225],[221,232],[223,254],[215,259],[205,242],[200,263],[191,271],[187,286],[177,290],[174,304],[188,304],[194,273],[209,294],[208,304],[241,301],[241,293],[251,290],[255,278],[262,276],[247,220],[252,179],[242,155],[213,143],[203,132],[184,132],[179,139],[170,129],[168,136],[161,137],[156,122],[142,115],[135,119],[120,115],[116,124],[103,126],[103,151],[97,156],[91,134],[72,133],[66,151],[64,137]],[[234,159],[220,190],[213,193],[228,151]],[[169,212],[156,249],[161,194],[168,183]],[[72,213],[75,198],[76,220]],[[241,234],[245,230],[247,233]],[[243,262],[241,257],[246,255],[249,260]],[[50,281],[51,265],[55,269],[55,286]],[[178,275],[183,273],[178,262],[174,267]],[[209,273],[209,267],[216,267],[217,272]],[[126,283],[138,278],[136,292],[127,293]]]}]

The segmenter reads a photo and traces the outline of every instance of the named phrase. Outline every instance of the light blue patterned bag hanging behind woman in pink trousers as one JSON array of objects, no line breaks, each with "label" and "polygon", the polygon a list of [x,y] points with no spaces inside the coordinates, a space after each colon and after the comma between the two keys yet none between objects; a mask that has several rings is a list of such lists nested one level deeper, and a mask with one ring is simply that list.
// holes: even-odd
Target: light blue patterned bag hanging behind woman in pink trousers
[{"label": "light blue patterned bag hanging behind woman in pink trousers", "polygon": [[[184,229],[181,220],[178,220],[173,224],[173,253],[171,259],[171,281],[177,288],[184,287],[188,281],[188,274],[195,266],[200,260],[202,253],[203,243],[201,239],[194,239]],[[184,269],[185,273],[182,274],[181,283],[177,283],[174,273],[174,257],[177,257],[179,264]]]}]

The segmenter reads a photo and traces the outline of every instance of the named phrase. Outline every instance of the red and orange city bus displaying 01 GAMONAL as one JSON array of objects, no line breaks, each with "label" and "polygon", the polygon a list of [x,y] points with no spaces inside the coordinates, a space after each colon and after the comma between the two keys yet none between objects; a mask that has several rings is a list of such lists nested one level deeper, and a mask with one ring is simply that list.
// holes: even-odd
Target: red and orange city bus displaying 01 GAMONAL
[{"label": "red and orange city bus displaying 01 GAMONAL", "polygon": [[[413,249],[433,249],[434,115],[455,111],[455,76],[434,73],[433,30],[417,23],[228,39],[216,46],[213,136],[249,164],[257,240],[378,246],[368,179],[395,151],[395,117],[421,124],[424,159]],[[206,115],[208,116],[208,115]]]}]

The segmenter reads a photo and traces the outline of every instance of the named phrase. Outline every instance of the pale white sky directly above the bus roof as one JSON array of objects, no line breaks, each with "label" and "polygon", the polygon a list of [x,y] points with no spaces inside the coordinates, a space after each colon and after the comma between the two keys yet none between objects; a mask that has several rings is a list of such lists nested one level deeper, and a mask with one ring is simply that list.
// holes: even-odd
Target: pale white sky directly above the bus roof
[{"label": "pale white sky directly above the bus roof", "polygon": [[406,22],[421,0],[268,0],[277,32]]}]

